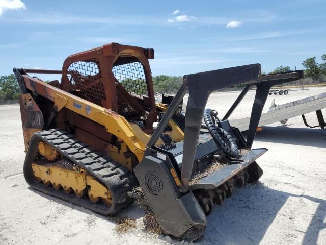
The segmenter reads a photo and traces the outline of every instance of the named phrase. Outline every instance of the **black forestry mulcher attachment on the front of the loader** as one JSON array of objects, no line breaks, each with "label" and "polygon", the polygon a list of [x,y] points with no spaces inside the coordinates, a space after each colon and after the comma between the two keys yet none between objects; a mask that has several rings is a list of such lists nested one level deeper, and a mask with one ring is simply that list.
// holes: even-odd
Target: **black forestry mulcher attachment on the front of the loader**
[{"label": "black forestry mulcher attachment on the front of the loader", "polygon": [[[154,213],[164,233],[191,241],[199,238],[213,206],[231,197],[235,187],[255,182],[262,175],[255,160],[267,149],[248,149],[246,145],[252,142],[246,142],[228,120],[219,121],[210,109],[204,113],[212,91],[260,75],[260,65],[253,64],[183,77],[184,83],[149,140],[143,160],[134,168],[147,200],[142,206]],[[169,148],[156,147],[186,91],[184,141],[171,143]],[[201,131],[203,117],[208,132]],[[252,126],[259,119],[260,115],[251,118]]]}]

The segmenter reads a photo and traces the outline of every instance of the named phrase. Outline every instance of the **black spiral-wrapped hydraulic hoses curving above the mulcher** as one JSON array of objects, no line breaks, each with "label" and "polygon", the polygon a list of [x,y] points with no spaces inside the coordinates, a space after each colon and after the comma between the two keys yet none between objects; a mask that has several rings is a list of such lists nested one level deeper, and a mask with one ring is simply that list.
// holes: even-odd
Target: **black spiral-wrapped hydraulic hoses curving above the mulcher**
[{"label": "black spiral-wrapped hydraulic hoses curving above the mulcher", "polygon": [[[215,141],[216,144],[220,146],[220,148],[223,150],[223,152],[226,155],[228,155],[229,157],[238,157],[239,148],[235,142],[235,139],[232,137],[232,135],[229,132],[215,125],[214,123],[215,121],[212,118],[212,116],[213,116],[213,111],[211,109],[204,110],[204,121],[208,129],[208,132],[212,136],[213,140]],[[224,142],[221,136],[228,141],[229,145]]]}]

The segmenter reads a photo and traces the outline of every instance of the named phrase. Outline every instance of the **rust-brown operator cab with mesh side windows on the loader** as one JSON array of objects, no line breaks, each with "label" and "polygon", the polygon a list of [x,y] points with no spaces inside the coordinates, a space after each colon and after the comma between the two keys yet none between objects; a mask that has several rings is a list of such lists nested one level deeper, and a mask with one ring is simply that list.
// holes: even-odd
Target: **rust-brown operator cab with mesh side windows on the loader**
[{"label": "rust-brown operator cab with mesh side windows on the loader", "polygon": [[153,58],[153,49],[106,44],[69,56],[61,86],[152,133],[157,113],[148,59]]}]

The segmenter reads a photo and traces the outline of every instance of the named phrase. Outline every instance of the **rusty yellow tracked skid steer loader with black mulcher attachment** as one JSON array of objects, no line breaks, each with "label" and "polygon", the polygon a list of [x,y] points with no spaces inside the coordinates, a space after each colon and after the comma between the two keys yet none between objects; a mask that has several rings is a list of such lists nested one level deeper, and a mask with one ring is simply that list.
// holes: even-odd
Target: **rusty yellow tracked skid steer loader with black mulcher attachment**
[{"label": "rusty yellow tracked skid steer loader with black mulcher attachment", "polygon": [[[153,58],[153,49],[111,43],[69,56],[62,71],[14,68],[24,177],[38,191],[104,215],[137,198],[165,234],[192,241],[215,204],[263,174],[256,159],[267,149],[251,146],[268,89],[257,86],[245,140],[205,106],[214,90],[259,85],[260,64],[185,75],[174,97],[155,102]],[[29,73],[62,79],[45,83]],[[137,197],[134,187],[142,189]]]}]

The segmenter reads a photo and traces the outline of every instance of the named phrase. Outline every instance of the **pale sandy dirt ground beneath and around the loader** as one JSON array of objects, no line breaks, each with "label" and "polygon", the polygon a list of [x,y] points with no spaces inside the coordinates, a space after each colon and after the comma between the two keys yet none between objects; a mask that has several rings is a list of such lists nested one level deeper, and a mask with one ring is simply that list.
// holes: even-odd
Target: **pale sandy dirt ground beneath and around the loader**
[{"label": "pale sandy dirt ground beneath and around the loader", "polygon": [[[326,88],[268,96],[264,112],[273,98],[282,104],[321,92]],[[237,94],[214,93],[207,107],[223,115]],[[253,97],[250,91],[231,118],[248,116]],[[317,123],[314,113],[307,120]],[[136,205],[119,215],[137,219],[137,228],[118,234],[107,217],[32,190],[22,174],[25,153],[19,106],[0,106],[0,122],[0,244],[186,243],[145,231],[143,211]],[[301,117],[258,132],[253,148],[269,149],[257,161],[264,175],[216,207],[207,217],[204,237],[196,243],[326,244],[325,135],[306,128]]]}]

